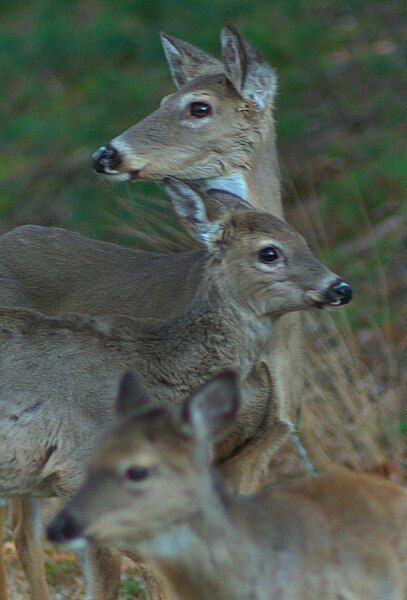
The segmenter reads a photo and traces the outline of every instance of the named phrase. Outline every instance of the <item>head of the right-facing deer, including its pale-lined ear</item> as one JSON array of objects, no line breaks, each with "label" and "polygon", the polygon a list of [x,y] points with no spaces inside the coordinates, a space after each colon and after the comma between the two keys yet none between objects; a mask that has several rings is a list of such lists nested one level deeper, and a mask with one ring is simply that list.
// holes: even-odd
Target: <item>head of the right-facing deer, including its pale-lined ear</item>
[{"label": "head of the right-facing deer, including its pale-lined ear", "polygon": [[253,210],[209,220],[203,194],[169,177],[165,189],[184,227],[207,247],[210,272],[231,303],[261,317],[350,301],[350,286],[285,221]]}]

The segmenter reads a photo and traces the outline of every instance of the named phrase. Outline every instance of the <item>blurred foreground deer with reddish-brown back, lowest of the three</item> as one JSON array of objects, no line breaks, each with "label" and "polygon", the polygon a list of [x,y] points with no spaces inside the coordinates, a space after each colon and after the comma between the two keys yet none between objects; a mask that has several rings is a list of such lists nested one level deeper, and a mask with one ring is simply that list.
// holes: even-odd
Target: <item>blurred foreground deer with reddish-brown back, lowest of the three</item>
[{"label": "blurred foreground deer with reddish-brown back, lowest of the three", "polygon": [[237,395],[233,373],[219,374],[187,399],[180,418],[127,374],[118,422],[49,538],[140,552],[171,599],[404,600],[406,490],[343,469],[231,495],[210,457],[233,428]]}]

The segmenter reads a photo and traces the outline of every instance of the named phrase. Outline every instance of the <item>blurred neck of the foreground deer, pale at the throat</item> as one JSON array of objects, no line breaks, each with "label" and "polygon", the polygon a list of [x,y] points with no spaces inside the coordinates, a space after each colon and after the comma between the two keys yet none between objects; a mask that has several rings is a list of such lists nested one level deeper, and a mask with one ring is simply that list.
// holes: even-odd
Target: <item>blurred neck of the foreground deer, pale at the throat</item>
[{"label": "blurred neck of the foreground deer, pale at the throat", "polygon": [[183,600],[250,597],[251,548],[242,544],[224,498],[212,495],[208,499],[204,491],[201,507],[188,521],[162,532],[141,551],[151,557],[175,596]]}]

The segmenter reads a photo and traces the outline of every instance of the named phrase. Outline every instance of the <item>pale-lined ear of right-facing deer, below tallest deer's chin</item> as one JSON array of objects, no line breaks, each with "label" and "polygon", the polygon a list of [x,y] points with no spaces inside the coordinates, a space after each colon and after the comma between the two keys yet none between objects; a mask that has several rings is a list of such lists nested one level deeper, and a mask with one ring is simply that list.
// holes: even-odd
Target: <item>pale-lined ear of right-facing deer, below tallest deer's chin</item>
[{"label": "pale-lined ear of right-facing deer, below tallest deer's chin", "polygon": [[220,234],[220,225],[217,221],[208,219],[201,195],[174,177],[164,179],[164,188],[188,233],[210,247]]}]

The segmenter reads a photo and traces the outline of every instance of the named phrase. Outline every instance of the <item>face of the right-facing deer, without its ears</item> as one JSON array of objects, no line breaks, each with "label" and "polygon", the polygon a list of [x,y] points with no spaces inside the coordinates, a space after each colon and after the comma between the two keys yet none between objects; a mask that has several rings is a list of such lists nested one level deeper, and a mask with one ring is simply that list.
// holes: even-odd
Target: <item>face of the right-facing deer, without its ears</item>
[{"label": "face of the right-facing deer, without its ears", "polygon": [[243,211],[220,227],[222,237],[214,250],[219,278],[240,306],[261,316],[350,301],[350,287],[281,219]]}]

